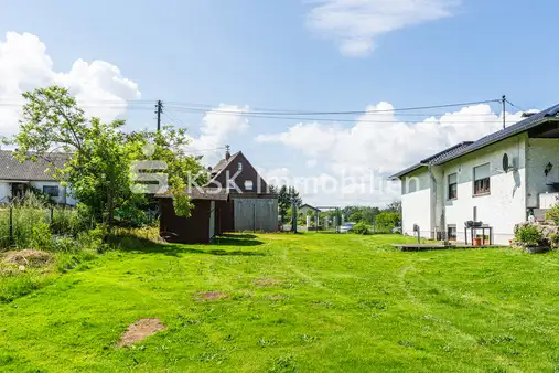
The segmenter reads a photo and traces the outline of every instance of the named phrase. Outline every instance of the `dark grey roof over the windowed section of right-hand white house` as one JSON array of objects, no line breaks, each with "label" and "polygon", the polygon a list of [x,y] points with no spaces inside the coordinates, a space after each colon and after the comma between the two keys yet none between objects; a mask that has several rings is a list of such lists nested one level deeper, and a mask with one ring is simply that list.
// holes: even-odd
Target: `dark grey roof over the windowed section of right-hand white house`
[{"label": "dark grey roof over the windowed section of right-hand white house", "polygon": [[547,108],[542,111],[539,111],[538,114],[535,114],[524,120],[520,120],[519,122],[512,125],[505,129],[499,130],[498,132],[494,132],[491,135],[487,135],[480,140],[472,143],[470,147],[466,147],[460,151],[455,151],[451,154],[447,154],[444,157],[441,157],[438,159],[433,164],[443,164],[450,160],[456,159],[459,157],[462,157],[464,154],[467,154],[474,150],[479,150],[482,148],[485,148],[488,145],[502,141],[504,139],[507,139],[509,137],[513,137],[515,135],[525,132],[534,127],[537,127],[541,125],[542,122],[546,122],[549,120],[549,118],[556,118],[559,114],[559,104],[551,106],[550,108]]}]

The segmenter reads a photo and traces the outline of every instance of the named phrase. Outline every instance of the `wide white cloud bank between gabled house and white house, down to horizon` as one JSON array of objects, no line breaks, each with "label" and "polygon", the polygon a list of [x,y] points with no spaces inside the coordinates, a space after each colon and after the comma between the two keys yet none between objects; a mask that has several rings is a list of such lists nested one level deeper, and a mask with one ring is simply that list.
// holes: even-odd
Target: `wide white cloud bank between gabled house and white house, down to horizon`
[{"label": "wide white cloud bank between gabled house and white house, down to horizon", "polygon": [[[507,114],[507,125],[522,114]],[[288,179],[311,204],[386,205],[399,198],[398,182],[388,182],[387,173],[419,162],[461,141],[477,140],[503,126],[502,115],[488,105],[464,107],[422,121],[402,121],[393,105],[368,106],[366,114],[351,126],[318,122],[297,124],[284,132],[260,135],[257,142],[281,143],[301,151],[312,160],[321,159],[325,172],[302,177],[272,170]],[[312,161],[311,160],[311,161]],[[313,162],[311,162],[313,163]],[[271,179],[273,180],[273,179]]]}]

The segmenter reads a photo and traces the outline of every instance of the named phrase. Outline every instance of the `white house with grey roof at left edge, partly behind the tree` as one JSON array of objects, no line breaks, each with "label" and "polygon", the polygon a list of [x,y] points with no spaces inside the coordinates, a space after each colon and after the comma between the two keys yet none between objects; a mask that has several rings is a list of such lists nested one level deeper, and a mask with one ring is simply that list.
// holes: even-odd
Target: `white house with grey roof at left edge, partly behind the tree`
[{"label": "white house with grey roof at left edge, partly behind the tree", "polygon": [[51,153],[49,161],[37,159],[35,162],[21,163],[13,157],[11,150],[0,150],[0,203],[21,198],[34,188],[51,195],[51,199],[58,204],[76,205],[69,190],[47,173],[47,170],[52,170],[53,167],[62,168],[67,160],[67,153]]}]

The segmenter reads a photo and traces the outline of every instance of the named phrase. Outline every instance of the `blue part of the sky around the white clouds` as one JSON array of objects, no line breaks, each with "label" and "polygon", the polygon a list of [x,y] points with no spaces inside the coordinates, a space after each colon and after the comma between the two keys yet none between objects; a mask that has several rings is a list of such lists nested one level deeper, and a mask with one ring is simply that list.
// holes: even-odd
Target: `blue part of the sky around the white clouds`
[{"label": "blue part of the sky around the white clouds", "polygon": [[[44,53],[53,62],[50,68],[56,73],[71,72],[78,58],[87,63],[107,62],[118,67],[122,78],[137,84],[141,99],[215,107],[226,104],[230,108],[246,106],[247,110],[318,111],[365,110],[367,106],[376,107],[381,102],[396,108],[474,102],[498,98],[504,93],[525,109],[541,109],[558,100],[555,84],[549,78],[559,57],[551,43],[556,34],[555,13],[559,10],[559,3],[553,2],[535,8],[531,2],[520,0],[88,3],[22,0],[3,1],[0,7],[0,43],[6,42],[7,32],[35,35],[46,46]],[[417,8],[409,11],[409,7]],[[341,13],[344,17],[337,19]],[[320,15],[319,25],[310,21],[313,14]],[[335,21],[327,23],[326,17],[333,17]],[[386,25],[395,20],[397,25]],[[346,24],[340,25],[341,22]],[[363,24],[356,31],[358,22]],[[357,53],[344,51],[341,39],[347,39],[355,32],[373,42],[375,47],[364,47],[365,51]],[[11,64],[3,66],[4,74],[8,74]],[[28,74],[30,70],[33,75],[32,68],[20,68],[20,75]],[[37,82],[43,83],[41,79]],[[100,79],[96,82],[106,86]],[[80,89],[87,89],[87,86],[84,83]],[[120,88],[115,89],[112,94],[118,96]],[[128,94],[122,97],[133,98]],[[484,118],[492,114],[485,108],[470,109],[482,110],[480,113],[486,115]],[[355,119],[357,125],[243,119],[225,115],[214,116],[212,120],[216,122],[207,125],[209,119],[204,121],[203,114],[170,111],[181,124],[189,126],[194,137],[204,132],[204,124],[218,130],[222,128],[219,118],[229,120],[223,128],[237,126],[240,129],[229,128],[224,136],[215,137],[214,134],[212,139],[230,143],[233,150],[243,150],[265,172],[281,170],[280,173],[291,177],[320,177],[331,173],[336,164],[365,166],[380,174],[394,171],[421,153],[428,154],[452,145],[452,141],[475,139],[469,135],[480,136],[498,129],[501,109],[498,105],[492,106],[492,109],[495,122],[475,124],[472,134],[466,134],[464,126],[456,134],[455,126],[452,127],[449,120],[445,125],[442,120],[436,126],[427,126],[428,129],[423,125],[406,124],[426,136],[426,146],[410,152],[401,150],[404,154],[396,157],[398,161],[389,166],[379,153],[389,149],[370,150],[375,147],[374,141],[355,148],[352,146],[354,132],[361,134],[359,138],[377,136],[372,128],[375,124],[368,124],[370,134],[363,135],[363,129],[354,128],[359,120],[355,116],[344,118]],[[460,108],[449,109],[458,110]],[[129,110],[126,117],[132,126],[153,122],[153,114],[149,110]],[[477,117],[481,116],[474,116]],[[424,117],[389,118],[393,119],[422,122]],[[514,120],[513,117],[510,119]],[[289,142],[294,136],[290,128],[299,122],[301,128],[309,129],[304,132],[309,136],[308,147],[304,141]],[[440,126],[452,136],[438,136]],[[383,126],[383,131],[391,131],[391,128]],[[401,125],[398,128],[408,129]],[[413,130],[408,135],[395,132],[394,138],[380,138],[379,141],[393,141],[394,150],[396,143],[406,143],[406,136],[410,134],[408,140],[412,142]],[[432,132],[431,137],[426,134],[428,131]],[[332,141],[327,142],[332,146],[331,151],[320,146],[320,135],[325,132],[331,134],[324,139]],[[461,136],[463,138],[460,139]],[[322,143],[326,143],[324,141]],[[348,154],[341,158],[336,154],[344,152]],[[367,154],[361,157],[363,152]],[[396,198],[394,193],[385,192],[354,196],[350,193],[336,203],[379,204]],[[326,203],[338,196],[309,193],[309,198]]]}]

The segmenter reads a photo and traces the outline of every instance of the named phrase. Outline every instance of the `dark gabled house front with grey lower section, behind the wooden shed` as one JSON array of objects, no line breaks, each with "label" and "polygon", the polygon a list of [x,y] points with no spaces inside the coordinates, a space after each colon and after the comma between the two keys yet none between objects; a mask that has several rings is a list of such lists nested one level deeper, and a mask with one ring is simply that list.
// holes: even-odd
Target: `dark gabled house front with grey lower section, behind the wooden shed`
[{"label": "dark gabled house front with grey lower section, behind the wooden shed", "polygon": [[209,174],[206,188],[224,189],[230,196],[230,202],[219,206],[222,232],[278,230],[278,196],[243,152],[227,150]]}]

